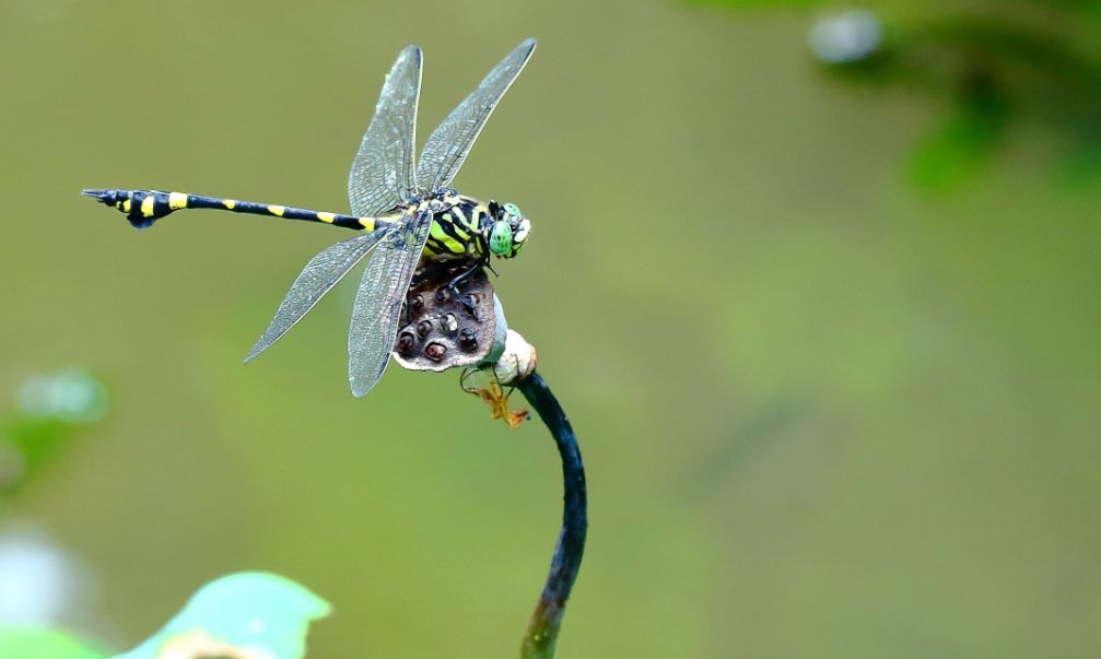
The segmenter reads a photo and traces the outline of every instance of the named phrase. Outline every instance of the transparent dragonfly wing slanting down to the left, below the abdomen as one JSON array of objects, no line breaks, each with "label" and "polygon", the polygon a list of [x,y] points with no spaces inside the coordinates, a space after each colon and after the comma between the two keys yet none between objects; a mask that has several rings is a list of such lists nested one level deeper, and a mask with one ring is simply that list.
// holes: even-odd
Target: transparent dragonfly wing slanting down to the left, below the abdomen
[{"label": "transparent dragonfly wing slanting down to the left, below the abdomen", "polygon": [[344,278],[348,271],[379,243],[388,230],[392,230],[392,228],[378,229],[338,242],[310,259],[298,278],[294,281],[294,284],[291,284],[291,289],[286,292],[286,297],[283,298],[279,310],[275,311],[275,317],[272,318],[257,344],[249,351],[244,362],[251,362],[302,320],[302,317],[314,308],[317,300],[331,290],[337,282]]}]

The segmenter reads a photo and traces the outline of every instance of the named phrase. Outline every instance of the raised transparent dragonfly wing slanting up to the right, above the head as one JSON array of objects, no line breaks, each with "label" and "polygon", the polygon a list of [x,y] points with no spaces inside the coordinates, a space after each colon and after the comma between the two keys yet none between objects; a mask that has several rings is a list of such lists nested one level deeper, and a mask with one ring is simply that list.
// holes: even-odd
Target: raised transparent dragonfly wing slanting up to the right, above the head
[{"label": "raised transparent dragonfly wing slanting up to the right, above the head", "polygon": [[486,120],[523,70],[534,50],[534,39],[516,46],[433,131],[417,164],[416,183],[421,189],[437,190],[451,183],[478,139],[478,133],[486,125]]}]

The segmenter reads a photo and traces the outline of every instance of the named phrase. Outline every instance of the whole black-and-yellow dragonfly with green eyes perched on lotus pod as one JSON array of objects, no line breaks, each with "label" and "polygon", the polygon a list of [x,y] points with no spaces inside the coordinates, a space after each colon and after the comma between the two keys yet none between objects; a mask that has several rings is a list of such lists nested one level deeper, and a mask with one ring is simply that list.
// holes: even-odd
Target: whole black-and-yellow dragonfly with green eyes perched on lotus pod
[{"label": "whole black-and-yellow dragonfly with green eyes perched on lotus pod", "polygon": [[[450,187],[486,121],[535,50],[528,39],[509,53],[428,136],[414,160],[421,92],[421,48],[397,56],[348,176],[351,213],[306,210],[188,193],[85,189],[83,194],[124,213],[139,229],[183,209],[211,209],[320,222],[351,229],[309,260],[295,278],[246,363],[286,334],[357,264],[367,265],[356,292],[348,331],[348,380],[366,396],[390,362],[400,316],[414,274],[433,266],[456,270],[450,290],[490,257],[512,259],[525,244],[531,220],[514,204],[481,201]],[[473,300],[464,300],[473,310]]]}]

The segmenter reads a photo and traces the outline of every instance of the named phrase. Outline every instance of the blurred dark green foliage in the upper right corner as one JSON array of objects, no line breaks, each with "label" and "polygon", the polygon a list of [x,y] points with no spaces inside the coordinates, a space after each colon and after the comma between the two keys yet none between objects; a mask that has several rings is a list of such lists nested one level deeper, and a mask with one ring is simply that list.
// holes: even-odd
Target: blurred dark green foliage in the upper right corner
[{"label": "blurred dark green foliage in the upper right corner", "polygon": [[942,191],[971,180],[1010,131],[1028,121],[1078,145],[1061,160],[1073,161],[1079,176],[1101,157],[1088,139],[1101,121],[1101,62],[1058,29],[991,10],[901,22],[894,34],[874,66],[841,68],[855,80],[949,97],[951,114],[912,160],[923,189]]}]

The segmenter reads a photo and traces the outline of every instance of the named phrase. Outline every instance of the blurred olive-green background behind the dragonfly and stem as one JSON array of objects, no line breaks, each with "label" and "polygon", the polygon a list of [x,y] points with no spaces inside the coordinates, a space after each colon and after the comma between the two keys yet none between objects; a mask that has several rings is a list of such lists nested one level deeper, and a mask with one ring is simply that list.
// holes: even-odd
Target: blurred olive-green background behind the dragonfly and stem
[{"label": "blurred olive-green background behind the dragonfly and stem", "polygon": [[532,35],[456,184],[535,222],[497,286],[588,466],[559,656],[1095,657],[1101,12],[914,4],[830,67],[829,3],[4,2],[0,414],[41,373],[110,392],[0,499],[54,552],[41,619],[132,647],[264,569],[334,604],[313,657],[516,655],[544,428],[456,374],[352,398],[348,284],[243,367],[338,231],[78,191],[342,210],[402,46],[423,139]]}]

